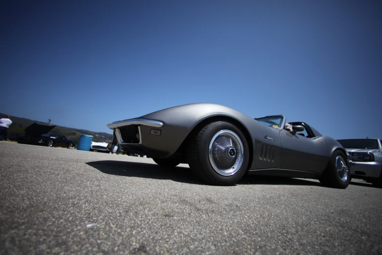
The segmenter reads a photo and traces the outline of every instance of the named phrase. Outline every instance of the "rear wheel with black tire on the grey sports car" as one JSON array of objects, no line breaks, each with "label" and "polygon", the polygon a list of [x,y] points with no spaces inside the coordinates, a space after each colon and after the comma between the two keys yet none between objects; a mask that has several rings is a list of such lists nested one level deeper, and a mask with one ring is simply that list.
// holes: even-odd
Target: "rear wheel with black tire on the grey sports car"
[{"label": "rear wheel with black tire on the grey sports car", "polygon": [[346,189],[350,179],[349,163],[345,154],[341,150],[335,150],[319,178],[321,184],[331,188]]}]

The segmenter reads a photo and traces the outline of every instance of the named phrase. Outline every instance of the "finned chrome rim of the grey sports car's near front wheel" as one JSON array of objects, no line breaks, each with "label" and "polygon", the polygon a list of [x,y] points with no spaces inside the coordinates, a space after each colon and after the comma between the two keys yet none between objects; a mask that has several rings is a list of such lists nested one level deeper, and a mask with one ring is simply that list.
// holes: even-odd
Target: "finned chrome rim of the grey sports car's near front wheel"
[{"label": "finned chrome rim of the grey sports car's near front wheel", "polygon": [[212,168],[220,175],[234,175],[243,162],[243,145],[231,130],[221,130],[212,137],[208,158]]}]

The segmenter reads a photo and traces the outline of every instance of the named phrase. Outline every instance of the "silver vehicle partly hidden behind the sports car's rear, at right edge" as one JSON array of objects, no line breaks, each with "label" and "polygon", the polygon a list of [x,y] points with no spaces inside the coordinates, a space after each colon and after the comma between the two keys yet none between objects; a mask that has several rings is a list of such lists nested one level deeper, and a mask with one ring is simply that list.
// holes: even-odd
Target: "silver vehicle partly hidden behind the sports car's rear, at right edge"
[{"label": "silver vehicle partly hidden behind the sports car's rear, at right edge", "polygon": [[350,175],[362,178],[376,187],[382,187],[382,142],[381,139],[337,140],[351,155]]}]

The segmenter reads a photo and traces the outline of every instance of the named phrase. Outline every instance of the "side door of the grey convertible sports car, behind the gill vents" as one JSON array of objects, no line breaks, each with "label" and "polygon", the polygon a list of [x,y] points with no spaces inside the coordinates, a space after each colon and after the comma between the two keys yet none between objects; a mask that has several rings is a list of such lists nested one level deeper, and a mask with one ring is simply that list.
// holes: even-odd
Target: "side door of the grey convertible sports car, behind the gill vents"
[{"label": "side door of the grey convertible sports car, behind the gill vents", "polygon": [[306,131],[293,135],[282,129],[280,139],[282,169],[320,173],[325,167],[327,155],[321,137],[310,138]]}]

